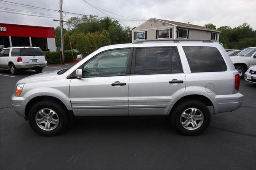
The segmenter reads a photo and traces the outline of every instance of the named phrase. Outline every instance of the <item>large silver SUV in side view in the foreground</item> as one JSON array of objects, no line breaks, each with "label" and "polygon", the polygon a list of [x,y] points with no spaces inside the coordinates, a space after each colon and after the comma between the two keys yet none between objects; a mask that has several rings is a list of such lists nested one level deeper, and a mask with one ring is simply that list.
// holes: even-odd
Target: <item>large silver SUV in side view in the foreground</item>
[{"label": "large silver SUV in side view in the foreground", "polygon": [[38,134],[62,132],[74,116],[168,116],[185,135],[203,132],[211,114],[234,111],[240,77],[219,43],[109,45],[70,69],[18,81],[12,107]]}]

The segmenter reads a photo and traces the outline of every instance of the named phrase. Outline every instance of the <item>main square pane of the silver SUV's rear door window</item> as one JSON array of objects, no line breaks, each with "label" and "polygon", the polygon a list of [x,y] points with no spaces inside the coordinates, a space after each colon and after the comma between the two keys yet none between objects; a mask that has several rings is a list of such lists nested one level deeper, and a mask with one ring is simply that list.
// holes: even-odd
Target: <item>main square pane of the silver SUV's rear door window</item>
[{"label": "main square pane of the silver SUV's rear door window", "polygon": [[170,73],[170,48],[136,49],[135,73]]}]

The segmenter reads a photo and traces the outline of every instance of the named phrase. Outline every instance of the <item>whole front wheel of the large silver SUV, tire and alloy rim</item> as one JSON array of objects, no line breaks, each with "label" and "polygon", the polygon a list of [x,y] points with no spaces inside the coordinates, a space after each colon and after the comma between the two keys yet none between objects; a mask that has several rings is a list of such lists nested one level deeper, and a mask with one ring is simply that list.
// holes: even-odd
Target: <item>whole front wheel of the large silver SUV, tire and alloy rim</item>
[{"label": "whole front wheel of the large silver SUV, tire and alloy rim", "polygon": [[60,134],[68,125],[68,113],[54,101],[40,101],[29,111],[28,121],[32,129],[42,136]]}]

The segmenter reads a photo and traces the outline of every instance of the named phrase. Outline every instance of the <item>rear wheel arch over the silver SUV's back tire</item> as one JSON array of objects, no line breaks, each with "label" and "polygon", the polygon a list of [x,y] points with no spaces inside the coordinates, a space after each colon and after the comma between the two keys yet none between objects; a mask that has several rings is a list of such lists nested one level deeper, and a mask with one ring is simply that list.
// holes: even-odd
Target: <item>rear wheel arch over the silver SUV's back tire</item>
[{"label": "rear wheel arch over the silver SUV's back tire", "polygon": [[183,96],[181,97],[180,99],[178,99],[176,102],[174,102],[172,104],[172,108],[170,109],[169,111],[169,115],[171,115],[171,112],[173,109],[175,109],[175,107],[177,107],[180,103],[182,103],[183,101],[187,101],[187,100],[199,100],[201,101],[202,103],[204,103],[206,106],[211,106],[213,107],[213,113],[214,113],[214,103],[206,96],[204,95],[186,95],[186,96]]}]

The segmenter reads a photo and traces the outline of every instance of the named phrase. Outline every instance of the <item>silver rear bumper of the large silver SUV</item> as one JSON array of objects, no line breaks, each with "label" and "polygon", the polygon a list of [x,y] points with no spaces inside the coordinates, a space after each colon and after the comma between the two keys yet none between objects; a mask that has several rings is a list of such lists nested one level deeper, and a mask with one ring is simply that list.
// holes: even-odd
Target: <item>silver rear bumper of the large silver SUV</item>
[{"label": "silver rear bumper of the large silver SUV", "polygon": [[217,102],[214,113],[230,112],[239,109],[244,101],[244,95],[240,93],[232,95],[216,95]]}]

